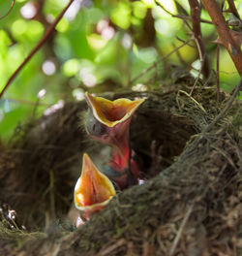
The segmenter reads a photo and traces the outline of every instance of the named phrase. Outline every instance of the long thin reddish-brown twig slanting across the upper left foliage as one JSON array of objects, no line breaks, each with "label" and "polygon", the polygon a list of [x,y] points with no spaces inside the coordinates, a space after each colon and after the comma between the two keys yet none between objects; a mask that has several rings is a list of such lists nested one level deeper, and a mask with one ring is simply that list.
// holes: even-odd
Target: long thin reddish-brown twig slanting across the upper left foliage
[{"label": "long thin reddish-brown twig slanting across the upper left foliage", "polygon": [[10,79],[5,84],[4,88],[0,92],[0,98],[3,96],[5,90],[8,88],[8,86],[11,84],[13,80],[15,80],[15,77],[17,74],[21,71],[21,69],[26,65],[26,63],[32,58],[32,56],[45,44],[46,40],[49,38],[51,33],[53,32],[55,26],[58,24],[62,16],[66,13],[68,8],[72,5],[72,3],[75,0],[70,0],[68,5],[63,9],[63,11],[59,14],[59,16],[56,17],[54,22],[49,26],[49,28],[46,30],[44,37],[41,39],[41,41],[38,43],[38,45],[31,50],[31,52],[28,54],[28,56],[24,59],[24,61],[20,64],[20,66],[15,70],[14,74],[10,77]]}]

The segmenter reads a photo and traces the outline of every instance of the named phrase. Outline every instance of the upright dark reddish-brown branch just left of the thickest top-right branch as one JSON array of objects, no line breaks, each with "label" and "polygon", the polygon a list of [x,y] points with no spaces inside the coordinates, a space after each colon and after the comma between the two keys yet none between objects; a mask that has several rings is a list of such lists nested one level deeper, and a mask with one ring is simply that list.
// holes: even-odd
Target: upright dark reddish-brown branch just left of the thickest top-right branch
[{"label": "upright dark reddish-brown branch just left of the thickest top-right branch", "polygon": [[210,69],[209,62],[206,54],[206,50],[202,41],[201,30],[200,30],[200,5],[197,0],[189,0],[190,8],[191,8],[191,16],[193,23],[193,32],[194,36],[197,39],[197,48],[201,53],[201,72],[205,79],[209,77]]}]

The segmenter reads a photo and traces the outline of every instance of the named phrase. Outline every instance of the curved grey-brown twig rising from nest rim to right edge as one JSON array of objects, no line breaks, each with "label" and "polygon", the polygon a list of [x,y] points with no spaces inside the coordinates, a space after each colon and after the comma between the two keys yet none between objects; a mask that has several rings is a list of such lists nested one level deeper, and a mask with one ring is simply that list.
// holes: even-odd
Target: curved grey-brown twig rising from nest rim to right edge
[{"label": "curved grey-brown twig rising from nest rim to right edge", "polygon": [[227,111],[231,108],[232,103],[233,103],[233,101],[235,100],[236,96],[239,94],[240,89],[242,89],[242,77],[240,77],[240,81],[239,81],[238,85],[236,86],[236,88],[235,88],[233,94],[231,95],[230,99],[228,100],[226,107],[223,109],[222,112],[220,112],[220,113],[214,118],[214,120],[213,120],[210,124],[208,124],[208,125],[205,127],[205,129],[202,131],[203,133],[206,133],[206,132],[208,132],[209,130],[211,130],[211,128],[212,128],[220,119],[222,119],[222,118],[226,115]]}]

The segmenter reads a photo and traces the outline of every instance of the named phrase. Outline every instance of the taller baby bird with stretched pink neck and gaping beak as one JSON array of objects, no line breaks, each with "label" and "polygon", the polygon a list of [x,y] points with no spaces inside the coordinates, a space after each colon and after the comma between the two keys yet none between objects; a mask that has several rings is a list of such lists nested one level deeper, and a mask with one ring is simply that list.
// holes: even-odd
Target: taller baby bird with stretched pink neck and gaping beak
[{"label": "taller baby bird with stretched pink neck and gaping beak", "polygon": [[94,140],[109,144],[112,148],[110,160],[103,166],[102,172],[118,189],[137,184],[140,168],[136,153],[130,149],[130,122],[144,99],[109,101],[88,92],[85,99],[89,107],[85,123],[87,133]]}]

